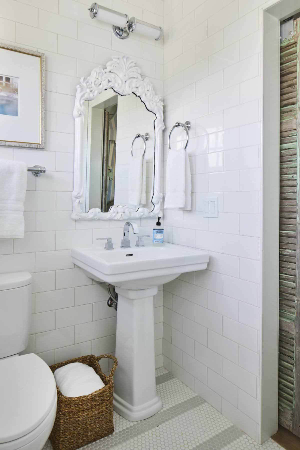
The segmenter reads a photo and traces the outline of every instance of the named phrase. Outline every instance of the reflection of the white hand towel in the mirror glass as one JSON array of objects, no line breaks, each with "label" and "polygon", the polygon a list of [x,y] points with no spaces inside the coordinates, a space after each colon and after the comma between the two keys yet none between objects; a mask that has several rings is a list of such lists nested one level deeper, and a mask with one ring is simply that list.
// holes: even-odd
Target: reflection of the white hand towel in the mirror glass
[{"label": "reflection of the white hand towel in the mirror glass", "polygon": [[139,206],[146,203],[146,158],[142,156],[130,157],[128,180],[128,204]]}]

